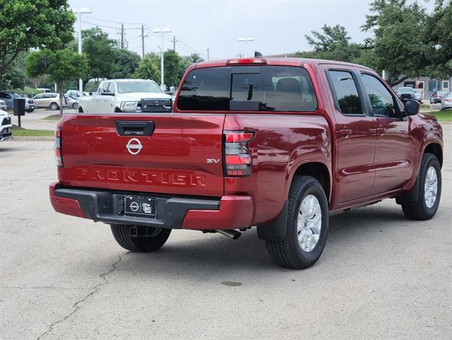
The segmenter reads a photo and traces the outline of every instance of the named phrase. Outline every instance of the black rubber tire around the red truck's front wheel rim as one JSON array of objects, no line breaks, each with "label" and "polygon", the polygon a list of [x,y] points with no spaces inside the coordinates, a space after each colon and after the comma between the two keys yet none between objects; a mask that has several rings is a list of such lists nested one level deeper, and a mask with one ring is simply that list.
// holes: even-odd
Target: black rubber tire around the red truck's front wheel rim
[{"label": "black rubber tire around the red truck's front wheel rim", "polygon": [[[425,193],[425,179],[427,176],[427,171],[433,166],[436,170],[436,176],[438,181],[438,191],[436,194],[436,200],[434,205],[429,208],[424,199]],[[441,200],[441,165],[434,154],[426,152],[422,156],[421,167],[419,169],[418,175],[419,186],[417,188],[417,203],[415,205],[402,205],[403,213],[406,217],[412,220],[430,220],[434,217],[436,211],[438,210],[439,200]],[[413,190],[415,190],[414,188]]]}]

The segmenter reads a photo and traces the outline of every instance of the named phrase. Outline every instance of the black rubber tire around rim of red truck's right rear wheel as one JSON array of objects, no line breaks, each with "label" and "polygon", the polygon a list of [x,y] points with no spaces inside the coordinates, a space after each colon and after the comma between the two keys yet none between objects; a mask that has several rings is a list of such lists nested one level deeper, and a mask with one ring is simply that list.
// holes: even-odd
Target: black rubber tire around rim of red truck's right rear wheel
[{"label": "black rubber tire around rim of red truck's right rear wheel", "polygon": [[[299,243],[297,220],[301,202],[308,195],[313,195],[320,203],[322,225],[315,247],[305,252]],[[310,176],[296,176],[289,192],[289,209],[287,213],[286,235],[282,241],[267,241],[267,251],[272,260],[286,268],[303,269],[312,266],[322,254],[328,234],[328,200],[320,183]]]}]

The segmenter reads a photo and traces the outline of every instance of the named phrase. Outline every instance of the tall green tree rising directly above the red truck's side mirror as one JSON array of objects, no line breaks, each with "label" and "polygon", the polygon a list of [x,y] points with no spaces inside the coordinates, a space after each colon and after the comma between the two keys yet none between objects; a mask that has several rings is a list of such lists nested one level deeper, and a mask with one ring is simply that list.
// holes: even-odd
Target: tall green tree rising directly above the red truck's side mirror
[{"label": "tall green tree rising directly above the red truck's side mirror", "polygon": [[427,75],[430,56],[422,36],[427,20],[424,8],[406,0],[375,0],[364,30],[373,30],[374,61],[386,71],[390,86],[409,77]]}]

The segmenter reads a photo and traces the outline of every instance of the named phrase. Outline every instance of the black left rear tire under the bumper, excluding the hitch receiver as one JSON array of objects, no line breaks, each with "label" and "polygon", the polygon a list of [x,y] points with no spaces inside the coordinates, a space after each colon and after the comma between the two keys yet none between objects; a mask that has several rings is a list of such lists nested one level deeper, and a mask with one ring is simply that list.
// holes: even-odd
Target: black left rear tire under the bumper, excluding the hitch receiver
[{"label": "black left rear tire under the bumper, excluding the hitch receiver", "polygon": [[131,237],[130,228],[133,225],[110,225],[116,242],[122,248],[130,251],[147,253],[160,249],[170,236],[171,229],[156,229],[153,237]]}]

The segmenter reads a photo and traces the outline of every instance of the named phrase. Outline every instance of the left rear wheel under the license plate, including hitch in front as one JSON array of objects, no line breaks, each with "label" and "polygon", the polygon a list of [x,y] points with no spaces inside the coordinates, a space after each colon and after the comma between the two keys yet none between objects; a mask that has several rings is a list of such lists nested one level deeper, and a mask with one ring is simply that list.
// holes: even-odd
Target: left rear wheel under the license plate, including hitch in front
[{"label": "left rear wheel under the license plate, including hitch in front", "polygon": [[122,248],[144,253],[160,249],[171,233],[171,229],[138,225],[111,225],[111,229],[116,242]]}]

